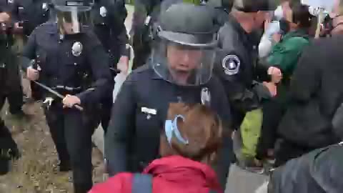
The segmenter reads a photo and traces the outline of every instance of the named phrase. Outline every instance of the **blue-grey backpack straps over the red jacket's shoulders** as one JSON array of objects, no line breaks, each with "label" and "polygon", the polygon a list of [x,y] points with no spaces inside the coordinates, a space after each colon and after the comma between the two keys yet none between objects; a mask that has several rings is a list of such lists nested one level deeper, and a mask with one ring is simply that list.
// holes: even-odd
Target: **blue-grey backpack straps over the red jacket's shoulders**
[{"label": "blue-grey backpack straps over the red jacket's shoulders", "polygon": [[[150,174],[134,174],[132,193],[152,193],[152,176]],[[217,193],[210,190],[209,193]]]}]

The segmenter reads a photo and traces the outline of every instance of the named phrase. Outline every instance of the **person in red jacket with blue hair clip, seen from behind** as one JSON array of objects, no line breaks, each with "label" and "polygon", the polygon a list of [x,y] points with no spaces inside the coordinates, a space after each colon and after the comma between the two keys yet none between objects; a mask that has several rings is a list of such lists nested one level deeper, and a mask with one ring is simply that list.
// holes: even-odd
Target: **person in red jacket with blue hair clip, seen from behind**
[{"label": "person in red jacket with blue hair clip, seen from behind", "polygon": [[[161,134],[161,159],[155,159],[143,174],[152,176],[156,193],[222,193],[217,175],[209,166],[222,142],[222,123],[201,104],[170,104]],[[131,193],[134,174],[121,173],[96,184],[89,193]]]}]

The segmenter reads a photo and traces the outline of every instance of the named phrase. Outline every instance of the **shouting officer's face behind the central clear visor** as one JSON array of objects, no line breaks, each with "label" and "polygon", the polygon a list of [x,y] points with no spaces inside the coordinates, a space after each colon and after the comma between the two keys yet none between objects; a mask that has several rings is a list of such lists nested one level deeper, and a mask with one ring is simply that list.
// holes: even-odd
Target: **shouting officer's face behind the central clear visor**
[{"label": "shouting officer's face behind the central clear visor", "polygon": [[199,65],[199,60],[202,57],[202,51],[197,49],[189,49],[177,44],[169,44],[167,46],[167,59],[169,67],[175,71],[188,73]]}]

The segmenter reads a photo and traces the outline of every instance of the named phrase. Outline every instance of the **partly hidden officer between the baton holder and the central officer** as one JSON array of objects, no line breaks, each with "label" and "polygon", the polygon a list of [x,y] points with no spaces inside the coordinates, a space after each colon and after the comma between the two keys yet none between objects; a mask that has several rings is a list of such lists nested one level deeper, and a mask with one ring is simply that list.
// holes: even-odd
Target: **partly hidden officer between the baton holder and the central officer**
[{"label": "partly hidden officer between the baton holder and the central officer", "polygon": [[[94,32],[101,44],[109,52],[109,67],[114,76],[116,75],[116,64],[118,62],[124,64],[126,69],[129,67],[129,39],[124,24],[126,15],[124,1],[95,0],[95,4],[91,9]],[[111,118],[113,87],[103,99],[101,106],[101,125],[105,133]]]}]

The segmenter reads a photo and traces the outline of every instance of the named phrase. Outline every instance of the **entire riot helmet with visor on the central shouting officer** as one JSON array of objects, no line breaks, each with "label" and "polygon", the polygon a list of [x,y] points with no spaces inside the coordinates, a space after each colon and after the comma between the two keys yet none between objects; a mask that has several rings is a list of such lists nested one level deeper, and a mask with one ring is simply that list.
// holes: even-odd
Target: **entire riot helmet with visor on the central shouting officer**
[{"label": "entire riot helmet with visor on the central shouting officer", "polygon": [[206,84],[212,76],[218,31],[209,9],[173,4],[156,26],[150,62],[155,73],[182,86]]}]

